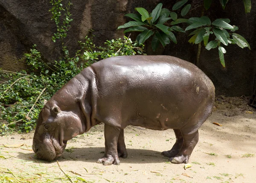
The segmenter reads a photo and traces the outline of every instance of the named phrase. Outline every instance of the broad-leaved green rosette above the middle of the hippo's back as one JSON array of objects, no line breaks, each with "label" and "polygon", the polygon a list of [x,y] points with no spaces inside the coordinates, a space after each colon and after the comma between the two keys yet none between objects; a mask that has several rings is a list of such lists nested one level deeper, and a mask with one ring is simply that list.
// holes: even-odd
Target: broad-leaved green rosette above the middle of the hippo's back
[{"label": "broad-leaved green rosette above the middle of the hippo's back", "polygon": [[[173,10],[177,10],[181,6],[183,6],[188,0],[182,0],[175,4],[173,7]],[[139,12],[139,14],[125,14],[125,16],[132,18],[135,21],[130,21],[128,23],[125,23],[124,25],[121,25],[118,27],[120,28],[128,28],[124,31],[130,32],[130,31],[138,31],[141,32],[137,36],[137,41],[139,44],[143,44],[145,40],[147,40],[149,37],[153,36],[151,41],[151,46],[153,51],[156,50],[159,43],[165,47],[167,44],[170,43],[170,41],[177,44],[177,39],[173,32],[179,31],[179,32],[185,32],[182,28],[180,28],[177,25],[172,26],[166,26],[164,23],[166,23],[168,20],[176,20],[176,21],[182,21],[177,20],[177,14],[175,12],[171,12],[166,8],[162,8],[163,4],[159,3],[154,10],[148,14],[148,11],[144,8],[135,8],[136,11]],[[185,16],[189,8],[191,6],[185,6],[182,9],[182,14]],[[170,16],[170,17],[169,17]]]}]

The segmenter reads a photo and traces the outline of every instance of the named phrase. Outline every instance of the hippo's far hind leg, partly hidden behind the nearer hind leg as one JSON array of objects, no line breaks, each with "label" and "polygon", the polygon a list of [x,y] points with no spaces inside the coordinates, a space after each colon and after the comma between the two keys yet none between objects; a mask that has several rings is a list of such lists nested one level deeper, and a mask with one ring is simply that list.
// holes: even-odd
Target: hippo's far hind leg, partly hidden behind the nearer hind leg
[{"label": "hippo's far hind leg, partly hidden behind the nearer hind leg", "polygon": [[175,157],[180,152],[180,149],[182,148],[182,145],[183,145],[183,136],[182,136],[180,130],[174,129],[173,131],[175,132],[175,136],[176,136],[175,144],[172,146],[171,150],[163,151],[161,153],[161,155],[168,157],[168,158]]}]

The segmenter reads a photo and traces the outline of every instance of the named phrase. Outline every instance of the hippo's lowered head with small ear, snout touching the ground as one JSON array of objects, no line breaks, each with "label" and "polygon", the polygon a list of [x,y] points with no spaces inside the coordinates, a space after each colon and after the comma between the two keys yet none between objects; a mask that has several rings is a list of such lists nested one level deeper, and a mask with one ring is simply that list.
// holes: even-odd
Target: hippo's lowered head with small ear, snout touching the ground
[{"label": "hippo's lowered head with small ear, snout touching the ground", "polygon": [[49,100],[38,116],[32,149],[38,158],[53,160],[64,152],[68,140],[84,132],[83,126],[77,113],[61,110]]}]

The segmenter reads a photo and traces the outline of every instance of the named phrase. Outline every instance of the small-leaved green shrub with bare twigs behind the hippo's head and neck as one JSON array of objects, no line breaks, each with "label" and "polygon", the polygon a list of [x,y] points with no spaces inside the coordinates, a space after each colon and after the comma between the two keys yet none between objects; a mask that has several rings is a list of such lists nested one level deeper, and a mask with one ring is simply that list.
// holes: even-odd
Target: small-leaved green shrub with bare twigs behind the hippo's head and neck
[{"label": "small-leaved green shrub with bare twigs behind the hippo's head and neck", "polygon": [[[35,127],[36,119],[47,100],[51,98],[62,85],[66,84],[76,74],[97,62],[111,56],[143,54],[144,45],[138,46],[138,42],[132,42],[130,38],[112,39],[105,42],[105,46],[97,47],[93,43],[93,34],[86,36],[84,42],[79,41],[80,49],[71,57],[64,38],[70,27],[68,22],[59,25],[61,11],[65,11],[65,19],[71,14],[68,12],[72,5],[68,3],[66,10],[62,8],[61,0],[52,0],[54,12],[52,18],[57,25],[57,36],[52,37],[62,41],[64,55],[58,61],[46,63],[36,45],[25,53],[23,59],[30,69],[20,72],[2,70],[0,68],[0,134],[11,132],[18,127],[19,132],[29,132]],[[58,11],[59,9],[59,11]],[[58,12],[57,12],[58,11]],[[92,32],[91,32],[92,33]]]}]

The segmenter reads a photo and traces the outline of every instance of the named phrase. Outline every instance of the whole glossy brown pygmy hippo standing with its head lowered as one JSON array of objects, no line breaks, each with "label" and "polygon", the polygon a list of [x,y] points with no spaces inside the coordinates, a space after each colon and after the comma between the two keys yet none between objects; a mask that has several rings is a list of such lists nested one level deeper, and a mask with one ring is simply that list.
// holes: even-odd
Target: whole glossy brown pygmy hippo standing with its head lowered
[{"label": "whole glossy brown pygmy hippo standing with its head lowered", "polygon": [[85,68],[45,104],[33,150],[53,160],[67,141],[105,124],[105,155],[97,163],[126,158],[124,128],[173,129],[176,142],[162,152],[172,163],[188,163],[198,129],[212,112],[215,88],[195,65],[172,56],[119,56]]}]

